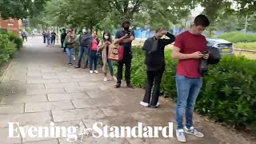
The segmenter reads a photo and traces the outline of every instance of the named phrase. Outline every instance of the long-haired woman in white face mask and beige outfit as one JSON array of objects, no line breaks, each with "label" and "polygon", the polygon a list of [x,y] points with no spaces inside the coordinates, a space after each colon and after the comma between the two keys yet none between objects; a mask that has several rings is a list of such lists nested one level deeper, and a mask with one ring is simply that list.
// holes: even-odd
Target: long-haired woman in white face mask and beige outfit
[{"label": "long-haired woman in white face mask and beige outfit", "polygon": [[107,81],[107,77],[106,77],[106,66],[107,65],[109,66],[109,69],[110,69],[110,74],[111,74],[110,80],[114,79],[113,78],[113,76],[114,76],[113,63],[111,60],[107,59],[111,43],[112,43],[111,34],[108,30],[105,30],[103,33],[102,41],[98,45],[98,52],[102,53],[102,62],[103,62],[102,71],[105,76],[104,82]]}]

